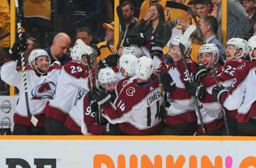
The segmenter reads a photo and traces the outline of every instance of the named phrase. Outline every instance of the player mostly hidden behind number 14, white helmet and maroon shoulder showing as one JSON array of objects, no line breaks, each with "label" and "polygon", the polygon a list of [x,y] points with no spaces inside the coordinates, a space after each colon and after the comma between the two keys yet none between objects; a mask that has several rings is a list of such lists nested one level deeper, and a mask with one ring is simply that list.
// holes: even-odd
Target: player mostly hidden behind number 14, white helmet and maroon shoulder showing
[{"label": "player mostly hidden behind number 14, white helmet and maroon shoulder showing", "polygon": [[138,58],[132,54],[123,54],[117,61],[117,68],[124,79],[120,80],[115,87],[116,96],[119,95],[121,89],[123,89],[128,82],[136,78],[135,63],[137,63],[137,61]]}]

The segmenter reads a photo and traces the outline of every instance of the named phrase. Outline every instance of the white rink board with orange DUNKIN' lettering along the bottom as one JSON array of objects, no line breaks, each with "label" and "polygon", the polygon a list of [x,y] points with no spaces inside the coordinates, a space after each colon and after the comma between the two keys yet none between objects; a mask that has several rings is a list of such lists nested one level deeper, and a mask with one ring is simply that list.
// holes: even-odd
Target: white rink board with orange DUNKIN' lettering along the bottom
[{"label": "white rink board with orange DUNKIN' lettering along the bottom", "polygon": [[1,136],[0,167],[253,168],[254,137]]}]

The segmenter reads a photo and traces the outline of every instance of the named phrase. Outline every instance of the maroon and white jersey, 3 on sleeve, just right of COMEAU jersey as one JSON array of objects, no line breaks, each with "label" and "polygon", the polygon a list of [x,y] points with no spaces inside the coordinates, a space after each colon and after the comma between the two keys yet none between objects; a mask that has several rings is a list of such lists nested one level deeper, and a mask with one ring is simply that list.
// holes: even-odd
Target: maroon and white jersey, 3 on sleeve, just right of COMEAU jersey
[{"label": "maroon and white jersey, 3 on sleeve, just right of COMEAU jersey", "polygon": [[[190,59],[186,59],[186,62],[190,77],[194,79],[196,63]],[[188,82],[188,75],[185,72],[183,61],[180,61],[177,65],[171,64],[167,72],[175,81],[176,88],[170,90],[170,94],[167,97],[170,107],[167,111],[165,123],[168,125],[175,125],[196,122],[195,103],[193,98],[188,95],[184,84],[185,82]]]}]

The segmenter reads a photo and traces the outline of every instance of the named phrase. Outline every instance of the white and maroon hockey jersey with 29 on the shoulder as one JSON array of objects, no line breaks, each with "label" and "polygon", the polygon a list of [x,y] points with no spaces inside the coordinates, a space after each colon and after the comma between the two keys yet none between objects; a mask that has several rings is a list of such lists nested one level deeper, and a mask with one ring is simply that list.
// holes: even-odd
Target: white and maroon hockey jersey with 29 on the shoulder
[{"label": "white and maroon hockey jersey with 29 on the shoulder", "polygon": [[69,61],[65,64],[61,69],[55,96],[46,104],[46,117],[64,122],[77,98],[90,90],[89,83],[89,73],[81,62]]}]

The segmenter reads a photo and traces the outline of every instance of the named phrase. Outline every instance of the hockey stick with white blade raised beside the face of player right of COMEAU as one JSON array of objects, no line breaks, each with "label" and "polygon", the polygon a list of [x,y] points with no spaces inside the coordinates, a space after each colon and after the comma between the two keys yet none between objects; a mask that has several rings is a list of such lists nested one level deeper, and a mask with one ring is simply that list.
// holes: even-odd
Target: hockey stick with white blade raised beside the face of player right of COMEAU
[{"label": "hockey stick with white blade raised beside the face of player right of COMEAU", "polygon": [[[184,66],[185,66],[185,71],[186,71],[186,73],[188,75],[188,82],[189,83],[192,83],[193,81],[191,80],[191,77],[190,77],[190,74],[189,74],[189,71],[188,71],[188,65],[187,65],[187,62],[186,62],[184,51],[185,51],[185,43],[186,43],[186,41],[189,39],[190,35],[195,30],[196,30],[196,27],[194,25],[190,25],[187,28],[187,30],[183,33],[183,35],[181,36],[180,44],[179,44],[180,52],[181,52],[181,55],[182,55]],[[194,99],[194,102],[196,104],[196,111],[197,111],[198,116],[199,116],[200,124],[202,125],[202,130],[203,130],[204,134],[206,135],[206,131],[205,131],[205,128],[204,128],[204,123],[203,123],[203,117],[202,117],[200,108],[198,106],[198,100],[197,100],[197,98],[195,96],[192,96],[192,98]]]}]

